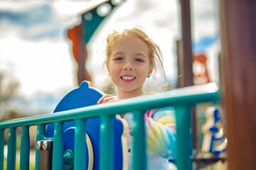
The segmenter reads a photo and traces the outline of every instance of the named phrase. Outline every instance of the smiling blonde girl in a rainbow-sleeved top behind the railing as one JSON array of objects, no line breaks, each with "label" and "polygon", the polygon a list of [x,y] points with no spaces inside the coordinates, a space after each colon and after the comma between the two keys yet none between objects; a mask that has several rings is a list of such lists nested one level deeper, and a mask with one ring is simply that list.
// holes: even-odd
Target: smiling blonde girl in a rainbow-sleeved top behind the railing
[{"label": "smiling blonde girl in a rainbow-sleeved top behind the railing", "polygon": [[[119,101],[144,95],[142,86],[159,63],[161,51],[139,28],[114,32],[107,37],[105,64],[118,96],[106,94],[97,103]],[[164,73],[165,77],[165,73]],[[127,135],[128,166],[132,169],[132,114],[124,114],[130,132]],[[176,119],[173,108],[145,113],[148,169],[169,169],[169,159],[176,158]]]}]

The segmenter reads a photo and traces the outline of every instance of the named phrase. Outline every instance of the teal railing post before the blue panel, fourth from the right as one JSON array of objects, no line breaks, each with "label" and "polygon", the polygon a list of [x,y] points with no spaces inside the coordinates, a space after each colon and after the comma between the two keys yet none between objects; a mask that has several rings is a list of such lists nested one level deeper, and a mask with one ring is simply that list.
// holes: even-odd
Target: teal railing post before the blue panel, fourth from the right
[{"label": "teal railing post before the blue panel, fourth from the right", "polygon": [[86,123],[85,119],[75,120],[75,161],[74,170],[87,169],[86,167]]}]

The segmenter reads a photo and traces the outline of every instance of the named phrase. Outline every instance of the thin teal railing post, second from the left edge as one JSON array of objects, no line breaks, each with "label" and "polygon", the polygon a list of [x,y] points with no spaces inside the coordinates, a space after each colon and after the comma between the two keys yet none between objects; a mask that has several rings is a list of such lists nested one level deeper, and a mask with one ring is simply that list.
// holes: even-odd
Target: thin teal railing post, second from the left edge
[{"label": "thin teal railing post, second from the left edge", "polygon": [[7,170],[15,169],[16,164],[16,128],[9,128]]}]

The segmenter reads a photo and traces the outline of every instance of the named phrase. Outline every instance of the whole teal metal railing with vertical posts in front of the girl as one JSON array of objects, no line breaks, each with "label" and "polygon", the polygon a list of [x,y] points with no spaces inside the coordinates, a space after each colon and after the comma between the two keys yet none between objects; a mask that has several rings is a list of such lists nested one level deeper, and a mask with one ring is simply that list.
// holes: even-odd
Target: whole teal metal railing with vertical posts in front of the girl
[{"label": "whole teal metal railing with vertical posts in front of the girl", "polygon": [[[191,135],[191,108],[198,103],[216,103],[220,100],[220,91],[215,83],[200,86],[190,86],[166,91],[159,96],[139,96],[113,103],[87,106],[58,114],[50,113],[30,118],[7,120],[0,123],[0,169],[4,169],[4,130],[9,129],[7,170],[15,169],[16,162],[16,128],[22,127],[20,169],[29,167],[29,127],[37,125],[36,141],[46,140],[46,125],[54,123],[53,169],[63,169],[63,123],[75,120],[75,160],[74,169],[85,169],[86,136],[85,125],[87,118],[100,117],[100,169],[112,169],[114,166],[112,142],[112,116],[131,112],[134,114],[133,169],[146,169],[146,137],[144,129],[144,112],[151,108],[172,106],[176,109],[177,154],[178,170],[191,170],[191,154],[193,138]],[[38,169],[39,151],[36,149],[36,169]]]}]

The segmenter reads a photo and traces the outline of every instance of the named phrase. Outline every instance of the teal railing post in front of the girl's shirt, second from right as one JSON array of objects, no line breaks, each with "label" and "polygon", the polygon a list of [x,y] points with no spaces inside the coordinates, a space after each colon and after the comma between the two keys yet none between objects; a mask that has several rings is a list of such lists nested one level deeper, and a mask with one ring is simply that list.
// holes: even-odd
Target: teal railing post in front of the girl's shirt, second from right
[{"label": "teal railing post in front of the girl's shirt, second from right", "polygon": [[132,169],[143,170],[146,166],[146,131],[144,112],[134,111]]}]

